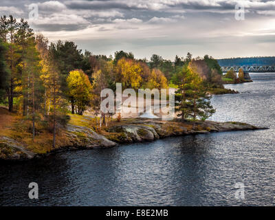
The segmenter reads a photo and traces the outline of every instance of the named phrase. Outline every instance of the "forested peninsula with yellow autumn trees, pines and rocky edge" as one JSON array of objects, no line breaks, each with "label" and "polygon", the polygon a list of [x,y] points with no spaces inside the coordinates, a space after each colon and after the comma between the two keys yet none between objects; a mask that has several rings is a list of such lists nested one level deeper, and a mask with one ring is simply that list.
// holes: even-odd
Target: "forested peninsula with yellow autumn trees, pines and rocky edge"
[{"label": "forested peninsula with yellow autumn trees, pines and rocky edge", "polygon": [[[233,78],[236,75],[228,74]],[[51,43],[27,21],[0,19],[0,159],[24,160],[77,148],[112,147],[128,142],[198,133],[259,129],[240,122],[210,122],[212,94],[236,93],[212,56],[131,52],[95,55],[72,41]],[[100,109],[100,92],[122,89],[175,89],[171,121],[123,118]]]}]

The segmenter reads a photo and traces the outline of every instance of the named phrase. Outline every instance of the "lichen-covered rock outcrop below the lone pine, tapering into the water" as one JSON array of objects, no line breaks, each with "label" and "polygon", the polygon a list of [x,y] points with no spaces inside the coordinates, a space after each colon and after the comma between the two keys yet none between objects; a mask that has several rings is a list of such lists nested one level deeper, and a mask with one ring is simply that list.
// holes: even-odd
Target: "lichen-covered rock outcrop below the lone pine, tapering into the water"
[{"label": "lichen-covered rock outcrop below the lone pine, tapering into the water", "polygon": [[112,126],[105,135],[117,143],[152,141],[164,137],[196,135],[211,132],[265,129],[241,122],[170,122],[155,119],[131,120],[129,124]]}]

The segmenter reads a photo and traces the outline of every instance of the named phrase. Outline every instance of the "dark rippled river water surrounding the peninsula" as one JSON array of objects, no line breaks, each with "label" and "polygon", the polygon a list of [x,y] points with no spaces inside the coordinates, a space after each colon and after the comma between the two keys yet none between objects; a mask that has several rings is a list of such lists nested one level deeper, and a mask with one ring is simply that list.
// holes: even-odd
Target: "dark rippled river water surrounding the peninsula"
[{"label": "dark rippled river water surrounding the peninsula", "polygon": [[[72,151],[39,162],[0,165],[5,206],[275,205],[275,74],[227,85],[241,94],[214,96],[212,120],[270,130],[170,137],[110,149]],[[28,184],[39,184],[39,199]],[[245,184],[236,199],[234,184]]]}]

